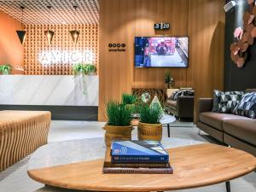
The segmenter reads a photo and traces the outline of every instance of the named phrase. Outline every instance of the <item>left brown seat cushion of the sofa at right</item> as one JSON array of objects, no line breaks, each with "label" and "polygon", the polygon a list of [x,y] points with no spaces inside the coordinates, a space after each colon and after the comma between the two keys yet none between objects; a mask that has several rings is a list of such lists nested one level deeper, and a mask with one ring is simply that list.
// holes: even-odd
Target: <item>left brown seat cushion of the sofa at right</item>
[{"label": "left brown seat cushion of the sofa at right", "polygon": [[248,119],[243,116],[235,114],[226,113],[214,113],[214,112],[204,112],[200,114],[200,121],[204,124],[210,125],[215,129],[223,131],[223,122],[227,119]]}]

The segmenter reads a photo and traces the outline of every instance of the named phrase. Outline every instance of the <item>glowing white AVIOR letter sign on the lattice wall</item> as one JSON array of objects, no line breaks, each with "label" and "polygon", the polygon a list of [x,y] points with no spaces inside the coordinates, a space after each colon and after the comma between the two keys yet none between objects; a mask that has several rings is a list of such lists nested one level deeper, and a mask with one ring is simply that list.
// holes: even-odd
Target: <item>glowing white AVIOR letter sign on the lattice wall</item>
[{"label": "glowing white AVIOR letter sign on the lattice wall", "polygon": [[90,49],[84,50],[43,50],[38,54],[38,61],[42,65],[53,64],[74,64],[91,63],[95,60],[95,55]]}]

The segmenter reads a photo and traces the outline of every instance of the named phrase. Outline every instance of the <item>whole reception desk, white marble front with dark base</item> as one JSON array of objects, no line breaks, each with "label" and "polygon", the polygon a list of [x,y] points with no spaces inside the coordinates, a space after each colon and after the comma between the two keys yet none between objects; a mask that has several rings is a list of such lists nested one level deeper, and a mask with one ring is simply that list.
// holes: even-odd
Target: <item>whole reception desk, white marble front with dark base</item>
[{"label": "whole reception desk, white marble front with dark base", "polygon": [[98,76],[1,75],[0,110],[48,110],[53,119],[97,119]]}]

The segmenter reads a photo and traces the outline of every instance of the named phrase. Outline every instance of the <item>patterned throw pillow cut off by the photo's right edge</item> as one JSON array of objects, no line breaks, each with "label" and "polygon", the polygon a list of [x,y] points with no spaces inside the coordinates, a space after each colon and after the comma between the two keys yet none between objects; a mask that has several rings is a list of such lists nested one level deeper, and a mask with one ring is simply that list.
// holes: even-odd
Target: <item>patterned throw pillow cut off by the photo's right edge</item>
[{"label": "patterned throw pillow cut off by the photo's right edge", "polygon": [[246,116],[252,119],[256,118],[256,92],[247,93],[241,98],[236,108],[233,110],[234,114]]}]

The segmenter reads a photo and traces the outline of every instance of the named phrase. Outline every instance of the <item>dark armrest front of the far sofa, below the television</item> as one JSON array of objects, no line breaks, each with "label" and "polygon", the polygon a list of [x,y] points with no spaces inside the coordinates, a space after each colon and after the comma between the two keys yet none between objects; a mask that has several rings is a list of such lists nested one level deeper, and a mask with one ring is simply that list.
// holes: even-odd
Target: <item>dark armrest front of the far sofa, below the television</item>
[{"label": "dark armrest front of the far sofa, below the television", "polygon": [[194,117],[195,96],[177,96],[177,116],[180,118]]}]

